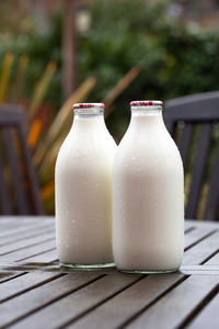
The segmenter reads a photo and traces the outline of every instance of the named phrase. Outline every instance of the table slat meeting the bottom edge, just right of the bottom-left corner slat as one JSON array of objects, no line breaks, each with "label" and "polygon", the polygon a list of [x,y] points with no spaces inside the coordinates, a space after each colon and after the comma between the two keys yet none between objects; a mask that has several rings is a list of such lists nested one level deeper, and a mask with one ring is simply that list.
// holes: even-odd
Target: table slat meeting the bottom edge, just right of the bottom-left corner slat
[{"label": "table slat meeting the bottom edge, just right of the bottom-left corner slat", "polygon": [[[96,307],[139,279],[138,275],[115,274],[102,277],[99,281],[68,295],[56,303],[48,305],[41,311],[25,318],[21,324],[24,328],[58,328],[73,317]],[[37,298],[37,296],[35,296]],[[1,311],[1,308],[0,308]]]}]

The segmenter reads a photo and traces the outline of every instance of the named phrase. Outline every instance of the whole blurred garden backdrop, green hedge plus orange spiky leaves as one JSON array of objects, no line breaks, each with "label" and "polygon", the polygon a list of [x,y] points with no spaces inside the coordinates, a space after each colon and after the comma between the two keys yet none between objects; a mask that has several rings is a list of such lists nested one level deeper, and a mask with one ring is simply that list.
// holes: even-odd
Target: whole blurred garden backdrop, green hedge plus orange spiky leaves
[{"label": "whole blurred garden backdrop, green hedge plus orange spiky leaves", "polygon": [[[65,0],[74,25],[66,23],[72,19],[68,7],[47,2],[54,3],[48,20],[41,11],[26,12],[26,1],[18,1],[15,12],[14,0],[0,4],[0,102],[26,109],[28,144],[46,211],[53,213],[54,163],[71,125],[71,103],[105,101],[106,124],[119,141],[129,101],[219,89],[219,33],[186,19],[188,1]],[[66,35],[74,47],[70,93],[62,75]]]}]

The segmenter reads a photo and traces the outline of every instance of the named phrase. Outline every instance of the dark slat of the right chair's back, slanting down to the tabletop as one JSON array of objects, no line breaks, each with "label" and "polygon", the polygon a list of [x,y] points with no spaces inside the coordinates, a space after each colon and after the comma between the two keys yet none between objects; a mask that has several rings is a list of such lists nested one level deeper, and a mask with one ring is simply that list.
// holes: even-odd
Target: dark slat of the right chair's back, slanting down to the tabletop
[{"label": "dark slat of the right chair's back, slanting down to the tabletop", "polygon": [[200,196],[204,172],[206,168],[207,157],[210,147],[212,124],[203,124],[196,149],[196,157],[192,170],[192,182],[188,194],[188,202],[185,209],[186,218],[195,218]]}]

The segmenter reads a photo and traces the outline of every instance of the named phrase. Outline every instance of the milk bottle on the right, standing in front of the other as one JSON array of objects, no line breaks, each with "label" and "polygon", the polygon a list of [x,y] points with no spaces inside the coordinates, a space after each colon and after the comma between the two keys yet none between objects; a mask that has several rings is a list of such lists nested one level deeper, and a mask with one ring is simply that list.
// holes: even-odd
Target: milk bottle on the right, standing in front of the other
[{"label": "milk bottle on the right, standing in front of the other", "polygon": [[162,102],[131,102],[113,170],[113,250],[126,272],[172,272],[184,247],[184,174]]}]

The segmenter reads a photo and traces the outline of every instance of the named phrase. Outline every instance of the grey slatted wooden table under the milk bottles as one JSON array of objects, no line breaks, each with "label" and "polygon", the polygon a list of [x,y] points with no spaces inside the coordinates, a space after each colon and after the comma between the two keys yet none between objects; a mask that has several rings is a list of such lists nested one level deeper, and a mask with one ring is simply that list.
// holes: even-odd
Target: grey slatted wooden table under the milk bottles
[{"label": "grey slatted wooden table under the milk bottles", "polygon": [[53,217],[0,217],[1,328],[219,328],[219,224],[186,222],[173,274],[60,268]]}]

